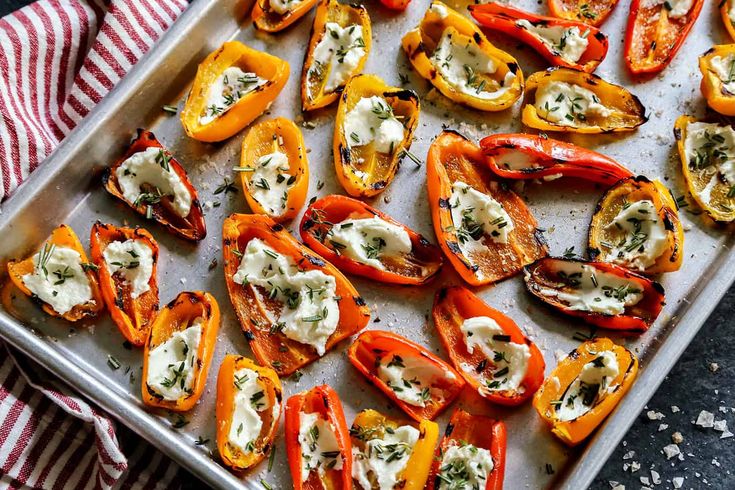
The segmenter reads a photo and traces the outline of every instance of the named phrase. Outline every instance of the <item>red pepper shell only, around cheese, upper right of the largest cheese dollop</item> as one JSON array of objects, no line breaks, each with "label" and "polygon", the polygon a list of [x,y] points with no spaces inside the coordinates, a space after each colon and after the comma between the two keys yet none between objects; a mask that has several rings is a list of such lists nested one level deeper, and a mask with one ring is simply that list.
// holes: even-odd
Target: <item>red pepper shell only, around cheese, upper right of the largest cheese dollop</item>
[{"label": "red pepper shell only, around cheese, upper right of the largest cheese dollop", "polygon": [[[380,268],[343,252],[347,250],[347,246],[333,236],[334,230],[339,231],[340,223],[346,220],[373,218],[400,227],[411,240],[409,253],[382,256],[380,255],[380,241],[376,244],[374,238],[370,242],[365,238],[362,247],[373,247],[371,250],[376,250],[376,259],[372,260],[380,261]],[[350,227],[354,226],[353,221],[348,224]],[[378,238],[382,240],[381,237]],[[443,263],[439,247],[430,244],[426,238],[387,214],[347,196],[331,195],[312,203],[301,219],[301,239],[309,248],[340,270],[391,284],[425,284],[436,276]]]}]

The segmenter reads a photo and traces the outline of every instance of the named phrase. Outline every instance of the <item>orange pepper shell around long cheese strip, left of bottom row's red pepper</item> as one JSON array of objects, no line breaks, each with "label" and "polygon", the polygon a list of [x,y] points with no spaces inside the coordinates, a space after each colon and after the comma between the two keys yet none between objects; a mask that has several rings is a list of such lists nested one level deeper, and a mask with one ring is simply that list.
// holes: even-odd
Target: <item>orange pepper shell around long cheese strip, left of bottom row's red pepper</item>
[{"label": "orange pepper shell around long cheese strip, left of bottom row's red pepper", "polygon": [[[258,382],[263,387],[265,399],[271,407],[258,412],[263,422],[260,435],[255,440],[254,449],[243,453],[238,447],[230,444],[229,434],[232,427],[232,412],[235,408],[235,373],[240,369],[250,369],[258,373]],[[283,388],[278,375],[271,368],[256,364],[252,359],[235,354],[227,354],[222,360],[217,375],[217,450],[222,461],[234,471],[245,471],[263,461],[273,450],[273,441],[278,432],[281,419]]]}]

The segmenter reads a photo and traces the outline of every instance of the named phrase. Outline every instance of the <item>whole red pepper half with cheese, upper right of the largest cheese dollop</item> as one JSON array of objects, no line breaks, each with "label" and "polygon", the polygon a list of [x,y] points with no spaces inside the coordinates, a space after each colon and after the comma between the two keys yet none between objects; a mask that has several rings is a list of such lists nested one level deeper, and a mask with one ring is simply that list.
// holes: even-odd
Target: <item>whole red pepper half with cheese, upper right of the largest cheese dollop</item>
[{"label": "whole red pepper half with cheese, upper right of the largest cheese dollop", "polygon": [[362,201],[331,195],[301,220],[303,242],[348,274],[391,284],[424,284],[442,266],[441,250]]}]

